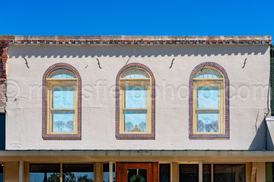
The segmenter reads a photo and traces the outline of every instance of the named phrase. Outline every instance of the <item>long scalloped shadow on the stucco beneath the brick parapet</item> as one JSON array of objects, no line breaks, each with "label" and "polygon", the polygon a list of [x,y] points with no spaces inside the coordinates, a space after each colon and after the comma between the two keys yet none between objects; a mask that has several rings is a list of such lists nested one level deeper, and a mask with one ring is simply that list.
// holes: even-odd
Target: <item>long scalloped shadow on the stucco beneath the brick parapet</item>
[{"label": "long scalloped shadow on the stucco beneath the brick parapet", "polygon": [[[9,58],[18,57],[157,57],[157,56],[217,56],[265,54],[263,45],[10,45]],[[65,48],[65,49],[64,49]],[[171,49],[170,49],[171,48]]]}]

